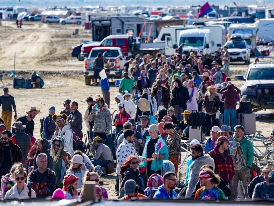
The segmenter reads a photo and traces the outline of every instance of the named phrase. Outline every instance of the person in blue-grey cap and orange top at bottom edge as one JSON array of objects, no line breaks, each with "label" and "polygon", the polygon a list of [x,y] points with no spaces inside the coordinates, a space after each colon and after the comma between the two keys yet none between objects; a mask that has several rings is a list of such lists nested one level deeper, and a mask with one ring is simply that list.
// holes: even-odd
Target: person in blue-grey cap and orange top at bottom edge
[{"label": "person in blue-grey cap and orange top at bottom edge", "polygon": [[139,185],[133,179],[128,179],[124,187],[122,188],[126,196],[121,197],[119,200],[130,200],[134,197],[134,199],[148,199],[146,195],[138,193]]}]

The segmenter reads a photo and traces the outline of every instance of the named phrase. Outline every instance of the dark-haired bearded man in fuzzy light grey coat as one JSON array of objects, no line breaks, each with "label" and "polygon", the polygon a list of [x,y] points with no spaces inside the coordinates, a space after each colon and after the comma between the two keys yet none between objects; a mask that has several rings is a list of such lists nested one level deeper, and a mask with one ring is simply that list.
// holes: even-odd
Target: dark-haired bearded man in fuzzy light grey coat
[{"label": "dark-haired bearded man in fuzzy light grey coat", "polygon": [[191,157],[192,157],[192,164],[189,166],[189,181],[188,181],[188,188],[186,189],[186,198],[190,199],[191,194],[193,193],[196,184],[199,180],[199,172],[200,168],[203,165],[211,165],[214,167],[214,160],[209,156],[209,154],[203,154],[204,149],[202,145],[200,144],[193,144],[190,146],[190,152],[191,152]]}]

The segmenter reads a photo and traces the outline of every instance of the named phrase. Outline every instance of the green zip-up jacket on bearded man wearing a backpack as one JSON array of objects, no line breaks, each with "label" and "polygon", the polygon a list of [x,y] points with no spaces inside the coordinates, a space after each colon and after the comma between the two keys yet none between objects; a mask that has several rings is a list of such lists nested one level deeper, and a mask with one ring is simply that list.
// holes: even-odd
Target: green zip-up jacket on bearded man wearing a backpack
[{"label": "green zip-up jacket on bearded man wearing a backpack", "polygon": [[[236,143],[238,142],[237,138],[235,138],[234,140]],[[253,156],[254,150],[253,150],[252,142],[249,141],[247,138],[243,137],[239,143],[243,149],[243,154],[245,155],[245,163],[246,163],[246,166],[244,166],[242,169],[245,169],[247,166],[251,167],[252,162],[254,160],[254,156]]]}]

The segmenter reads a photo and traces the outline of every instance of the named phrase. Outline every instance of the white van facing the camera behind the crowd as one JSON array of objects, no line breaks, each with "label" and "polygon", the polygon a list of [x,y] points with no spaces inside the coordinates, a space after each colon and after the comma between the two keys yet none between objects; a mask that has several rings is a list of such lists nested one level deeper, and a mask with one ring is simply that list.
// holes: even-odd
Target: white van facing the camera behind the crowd
[{"label": "white van facing the camera behind the crowd", "polygon": [[211,54],[211,38],[209,29],[187,29],[180,32],[178,45],[185,44],[184,53],[190,49],[193,51],[203,50],[204,54]]}]

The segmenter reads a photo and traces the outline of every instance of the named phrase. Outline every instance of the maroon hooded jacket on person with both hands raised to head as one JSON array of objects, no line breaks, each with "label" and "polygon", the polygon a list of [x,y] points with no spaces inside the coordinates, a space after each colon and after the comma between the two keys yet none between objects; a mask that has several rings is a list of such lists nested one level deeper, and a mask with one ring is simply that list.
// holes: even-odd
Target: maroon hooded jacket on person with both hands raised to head
[{"label": "maroon hooded jacket on person with both hands raised to head", "polygon": [[235,87],[234,84],[228,83],[220,92],[225,96],[225,109],[236,109],[235,98],[241,93],[241,90]]}]

